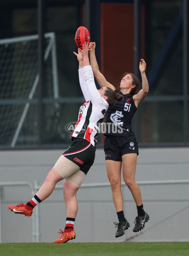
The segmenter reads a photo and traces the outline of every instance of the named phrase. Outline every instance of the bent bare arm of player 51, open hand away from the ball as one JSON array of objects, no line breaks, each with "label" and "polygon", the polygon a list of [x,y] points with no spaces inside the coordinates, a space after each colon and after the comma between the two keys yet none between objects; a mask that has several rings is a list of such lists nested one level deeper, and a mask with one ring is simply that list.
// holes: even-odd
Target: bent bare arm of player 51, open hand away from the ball
[{"label": "bent bare arm of player 51, open hand away from the ball", "polygon": [[140,102],[142,102],[146,98],[149,89],[148,80],[145,74],[146,62],[144,61],[144,59],[141,59],[139,69],[142,77],[142,89],[133,96],[136,107],[138,106],[138,104],[140,104]]}]

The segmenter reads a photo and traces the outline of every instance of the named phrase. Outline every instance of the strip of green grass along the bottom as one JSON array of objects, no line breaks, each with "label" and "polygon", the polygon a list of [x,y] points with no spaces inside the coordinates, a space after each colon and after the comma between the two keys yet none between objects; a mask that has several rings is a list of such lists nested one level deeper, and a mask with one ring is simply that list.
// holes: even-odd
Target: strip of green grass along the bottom
[{"label": "strip of green grass along the bottom", "polygon": [[2,243],[1,256],[185,256],[188,242]]}]

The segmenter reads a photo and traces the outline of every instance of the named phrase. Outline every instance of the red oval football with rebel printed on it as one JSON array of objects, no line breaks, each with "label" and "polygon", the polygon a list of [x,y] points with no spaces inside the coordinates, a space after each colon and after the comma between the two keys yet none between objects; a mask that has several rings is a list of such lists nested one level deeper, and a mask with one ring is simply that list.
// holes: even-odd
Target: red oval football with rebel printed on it
[{"label": "red oval football with rebel printed on it", "polygon": [[79,49],[83,50],[84,42],[90,43],[90,34],[86,27],[78,27],[75,35],[76,45]]}]

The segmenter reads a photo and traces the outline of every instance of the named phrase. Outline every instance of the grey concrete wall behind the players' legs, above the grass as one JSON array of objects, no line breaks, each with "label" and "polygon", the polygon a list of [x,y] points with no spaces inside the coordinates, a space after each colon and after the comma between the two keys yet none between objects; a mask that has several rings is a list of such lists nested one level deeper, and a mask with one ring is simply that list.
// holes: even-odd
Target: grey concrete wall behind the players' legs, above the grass
[{"label": "grey concrete wall behind the players' legs, above the grass", "polygon": [[[0,182],[43,184],[45,177],[64,150],[30,150],[0,152]],[[136,181],[189,179],[189,148],[140,149]],[[109,183],[103,149],[97,149],[95,163],[83,184]],[[63,181],[57,185],[63,185]],[[80,188],[77,192],[78,214],[74,224],[76,239],[72,242],[97,241],[189,241],[189,186],[140,185],[145,211],[150,220],[145,228],[133,233],[137,215],[129,189],[124,186],[124,212],[130,228],[115,238],[117,214],[110,187]],[[26,187],[1,187],[2,242],[32,242],[33,216],[25,217],[8,210],[9,204],[26,203],[33,197]],[[64,230],[66,209],[62,190],[54,190],[48,199],[37,205],[40,214],[40,241],[52,242]],[[34,209],[35,211],[35,209]]]}]

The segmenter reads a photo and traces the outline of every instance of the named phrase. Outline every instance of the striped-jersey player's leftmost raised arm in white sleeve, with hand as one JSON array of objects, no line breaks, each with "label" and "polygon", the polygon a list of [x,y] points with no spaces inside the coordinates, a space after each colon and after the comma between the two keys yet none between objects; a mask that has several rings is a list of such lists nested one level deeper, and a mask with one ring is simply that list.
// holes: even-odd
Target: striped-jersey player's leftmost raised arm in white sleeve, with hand
[{"label": "striped-jersey player's leftmost raised arm in white sleeve, with hand", "polygon": [[87,102],[87,101],[90,100],[90,96],[89,96],[89,92],[87,90],[87,87],[86,87],[86,84],[85,84],[85,79],[84,79],[82,53],[81,53],[80,49],[78,49],[78,53],[76,53],[75,51],[73,53],[77,56],[77,60],[79,62],[79,69],[78,69],[79,83],[80,83],[80,86],[81,86],[81,90],[83,92],[83,96],[84,96],[84,98]]}]

